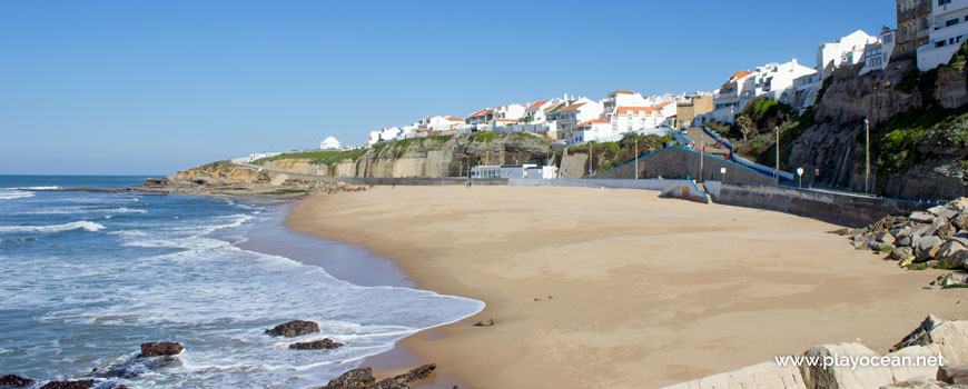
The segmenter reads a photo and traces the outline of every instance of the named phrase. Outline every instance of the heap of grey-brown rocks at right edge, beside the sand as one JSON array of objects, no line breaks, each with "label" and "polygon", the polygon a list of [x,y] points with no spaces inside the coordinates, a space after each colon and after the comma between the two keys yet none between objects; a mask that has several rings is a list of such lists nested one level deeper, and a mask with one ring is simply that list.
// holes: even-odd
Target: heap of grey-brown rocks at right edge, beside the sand
[{"label": "heap of grey-brown rocks at right edge, beside the sand", "polygon": [[968,288],[968,198],[960,198],[907,217],[888,216],[859,229],[834,233],[850,238],[858,250],[885,255],[909,270],[955,272],[931,282],[941,288]]}]

